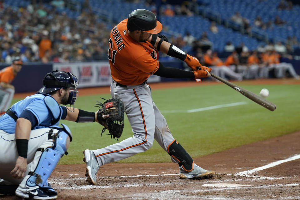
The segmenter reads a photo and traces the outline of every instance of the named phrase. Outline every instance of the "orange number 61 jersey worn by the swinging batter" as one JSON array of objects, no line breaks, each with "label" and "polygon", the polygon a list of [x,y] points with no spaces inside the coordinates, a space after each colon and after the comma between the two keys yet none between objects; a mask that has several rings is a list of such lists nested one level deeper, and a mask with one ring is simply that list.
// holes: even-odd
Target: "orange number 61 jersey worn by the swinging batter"
[{"label": "orange number 61 jersey worn by the swinging batter", "polygon": [[150,42],[137,42],[128,35],[127,19],[112,29],[108,60],[113,79],[123,85],[143,83],[159,68],[158,51]]}]

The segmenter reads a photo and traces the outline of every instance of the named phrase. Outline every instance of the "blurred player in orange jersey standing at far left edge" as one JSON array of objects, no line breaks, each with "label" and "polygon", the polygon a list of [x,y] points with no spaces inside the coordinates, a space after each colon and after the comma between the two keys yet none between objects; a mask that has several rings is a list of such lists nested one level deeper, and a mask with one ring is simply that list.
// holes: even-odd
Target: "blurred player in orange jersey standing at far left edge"
[{"label": "blurred player in orange jersey standing at far left edge", "polygon": [[12,102],[15,87],[11,84],[22,68],[22,61],[16,57],[12,65],[0,71],[0,116],[3,115]]}]

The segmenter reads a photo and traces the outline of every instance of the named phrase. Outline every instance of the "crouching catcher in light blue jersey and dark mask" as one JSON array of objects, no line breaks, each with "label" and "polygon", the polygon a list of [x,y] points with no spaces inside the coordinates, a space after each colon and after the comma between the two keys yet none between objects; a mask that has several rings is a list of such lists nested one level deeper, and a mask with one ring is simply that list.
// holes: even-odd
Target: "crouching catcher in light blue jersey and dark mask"
[{"label": "crouching catcher in light blue jersey and dark mask", "polygon": [[99,122],[98,111],[74,108],[77,86],[78,79],[72,73],[54,70],[44,77],[37,94],[13,104],[2,115],[0,193],[33,199],[57,198],[47,179],[72,141],[70,129],[64,124],[58,126],[59,120]]}]

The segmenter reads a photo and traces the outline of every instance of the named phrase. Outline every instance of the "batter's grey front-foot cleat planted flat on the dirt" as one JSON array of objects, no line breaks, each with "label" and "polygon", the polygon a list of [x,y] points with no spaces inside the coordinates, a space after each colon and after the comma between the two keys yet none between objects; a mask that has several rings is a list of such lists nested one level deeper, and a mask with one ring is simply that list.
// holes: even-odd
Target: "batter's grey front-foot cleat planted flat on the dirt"
[{"label": "batter's grey front-foot cleat planted flat on the dirt", "polygon": [[214,176],[214,171],[207,171],[196,164],[194,164],[194,168],[192,171],[187,172],[182,167],[179,167],[179,177],[183,179],[192,179],[192,178],[211,178]]}]

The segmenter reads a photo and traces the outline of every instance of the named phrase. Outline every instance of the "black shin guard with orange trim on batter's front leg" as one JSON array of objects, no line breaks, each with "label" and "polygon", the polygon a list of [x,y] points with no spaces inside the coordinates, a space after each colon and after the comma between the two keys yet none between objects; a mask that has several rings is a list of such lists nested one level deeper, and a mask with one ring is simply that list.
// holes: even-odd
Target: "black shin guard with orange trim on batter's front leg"
[{"label": "black shin guard with orange trim on batter's front leg", "polygon": [[168,153],[173,159],[179,162],[178,165],[182,166],[185,171],[193,169],[194,161],[192,157],[176,140],[168,146]]}]

